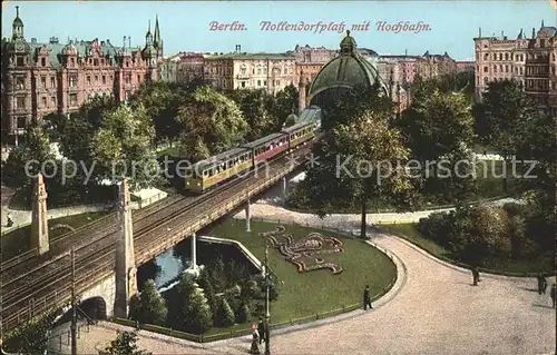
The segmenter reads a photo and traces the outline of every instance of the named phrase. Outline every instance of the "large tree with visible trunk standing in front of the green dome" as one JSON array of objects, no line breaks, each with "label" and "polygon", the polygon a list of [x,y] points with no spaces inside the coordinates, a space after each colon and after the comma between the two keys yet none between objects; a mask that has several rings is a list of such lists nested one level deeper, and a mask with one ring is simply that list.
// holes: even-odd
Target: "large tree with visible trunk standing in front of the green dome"
[{"label": "large tree with visible trunk standing in front of the green dome", "polygon": [[361,90],[344,95],[322,120],[323,137],[312,149],[317,164],[307,169],[303,187],[320,216],[360,205],[365,237],[368,203],[373,198],[411,206],[412,186],[400,167],[409,149],[392,127],[392,103],[378,87]]}]

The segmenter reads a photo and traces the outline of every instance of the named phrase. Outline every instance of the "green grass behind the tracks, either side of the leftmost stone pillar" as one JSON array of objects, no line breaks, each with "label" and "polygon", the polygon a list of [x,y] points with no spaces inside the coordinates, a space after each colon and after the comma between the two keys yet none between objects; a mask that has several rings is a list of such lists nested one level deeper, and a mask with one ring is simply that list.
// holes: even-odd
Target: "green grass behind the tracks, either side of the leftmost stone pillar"
[{"label": "green grass behind the tracks, either side of the leftmost stone pillar", "polygon": [[[50,241],[53,241],[65,234],[71,231],[68,230],[68,228],[51,229],[56,225],[69,225],[74,228],[79,228],[108,214],[109,211],[86,213],[81,215],[49,219],[49,239]],[[19,254],[26,253],[30,249],[31,226],[28,225],[3,235],[1,237],[1,244],[2,260],[9,260],[10,258],[18,256]]]}]

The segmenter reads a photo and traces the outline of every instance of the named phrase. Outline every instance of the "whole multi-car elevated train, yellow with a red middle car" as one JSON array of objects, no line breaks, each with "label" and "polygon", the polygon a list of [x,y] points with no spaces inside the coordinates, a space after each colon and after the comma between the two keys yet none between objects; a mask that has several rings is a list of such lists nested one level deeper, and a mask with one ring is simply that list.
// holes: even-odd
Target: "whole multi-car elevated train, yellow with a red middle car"
[{"label": "whole multi-car elevated train, yellow with a red middle car", "polygon": [[234,175],[240,175],[262,161],[289,154],[315,138],[317,121],[301,121],[280,132],[271,134],[216,156],[197,161],[187,171],[185,188],[203,194]]}]

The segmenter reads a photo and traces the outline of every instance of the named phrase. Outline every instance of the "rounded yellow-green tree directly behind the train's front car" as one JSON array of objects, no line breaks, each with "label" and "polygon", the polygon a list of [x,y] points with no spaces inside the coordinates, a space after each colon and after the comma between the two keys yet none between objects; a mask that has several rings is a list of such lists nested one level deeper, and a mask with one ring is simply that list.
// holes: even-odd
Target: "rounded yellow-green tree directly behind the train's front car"
[{"label": "rounded yellow-green tree directly behind the train's front car", "polygon": [[190,160],[208,158],[242,141],[247,124],[237,105],[209,86],[188,96],[178,110],[182,156]]}]

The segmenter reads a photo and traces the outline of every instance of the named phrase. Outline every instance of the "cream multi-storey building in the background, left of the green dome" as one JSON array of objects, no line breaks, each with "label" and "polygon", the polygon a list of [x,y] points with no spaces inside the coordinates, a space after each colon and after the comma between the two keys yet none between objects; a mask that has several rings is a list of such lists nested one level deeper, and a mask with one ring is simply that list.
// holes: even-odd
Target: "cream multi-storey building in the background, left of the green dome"
[{"label": "cream multi-storey building in the background, left of the green dome", "polygon": [[213,55],[204,60],[204,77],[222,90],[264,89],[275,95],[296,85],[295,57],[285,53]]}]

